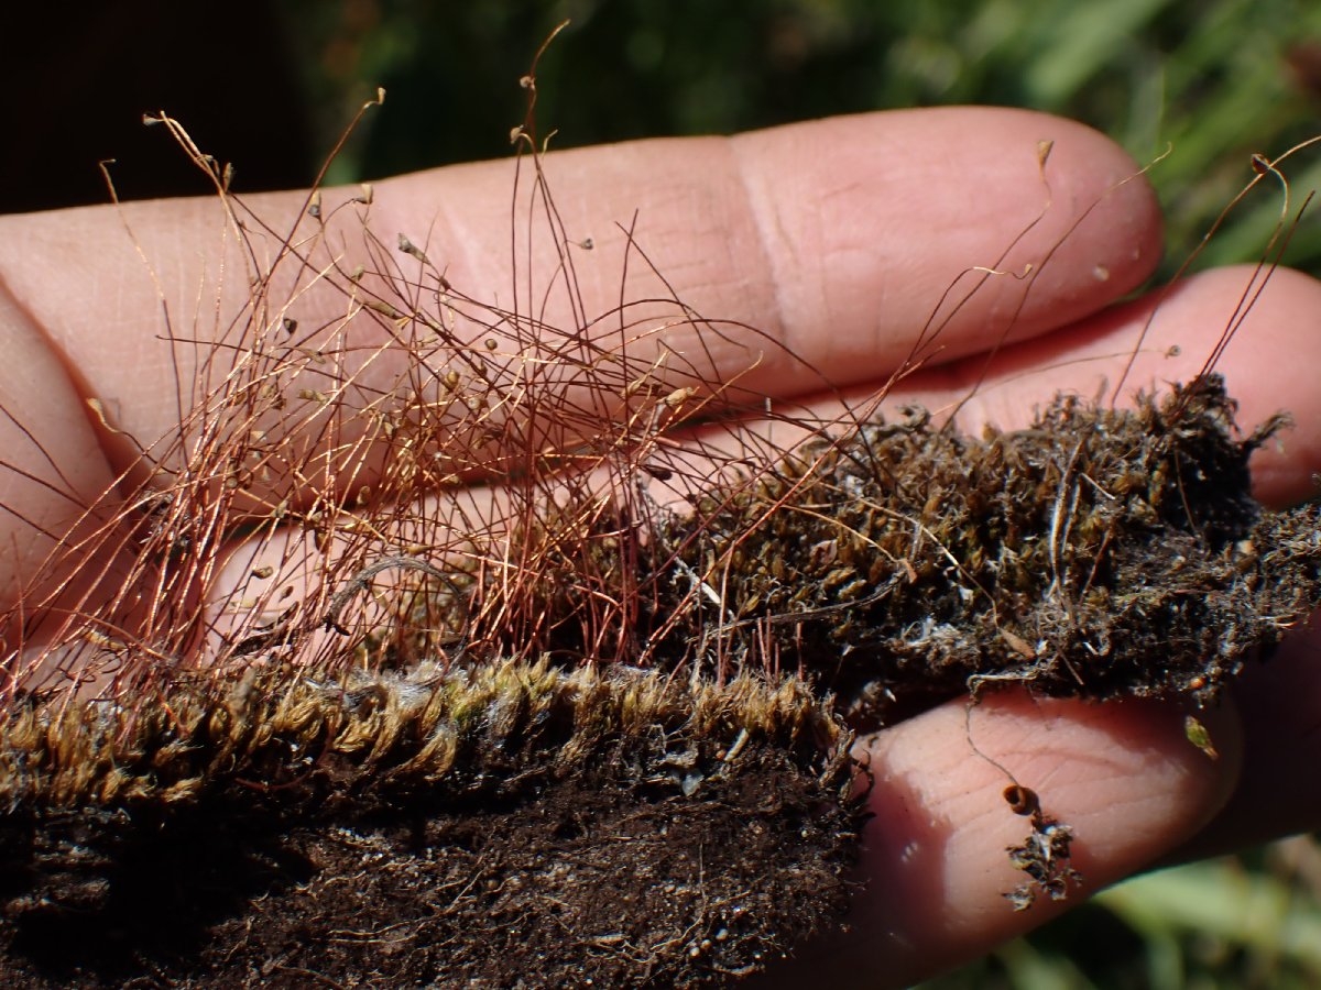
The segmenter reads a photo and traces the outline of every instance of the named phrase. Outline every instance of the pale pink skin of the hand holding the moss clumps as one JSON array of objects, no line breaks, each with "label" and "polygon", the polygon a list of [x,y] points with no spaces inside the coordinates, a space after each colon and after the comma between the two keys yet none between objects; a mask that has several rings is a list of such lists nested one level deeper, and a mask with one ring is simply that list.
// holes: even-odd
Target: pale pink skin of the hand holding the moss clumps
[{"label": "pale pink skin of the hand holding the moss clumps", "polygon": [[[982,286],[942,330],[941,352],[901,388],[933,408],[963,399],[983,372],[985,348],[1009,329],[1012,342],[959,420],[1017,425],[1058,389],[1091,396],[1103,380],[1114,387],[1153,305],[1107,308],[1155,267],[1161,218],[1141,178],[1107,193],[1137,166],[1100,135],[1018,111],[900,112],[573,152],[552,157],[551,180],[561,213],[598,248],[617,236],[616,222],[638,211],[638,240],[682,298],[761,327],[864,395],[910,351],[959,273],[996,263],[1042,213],[1042,140],[1054,141],[1052,209],[999,264],[1021,273],[1061,247],[1021,309],[1021,282],[1000,277]],[[374,223],[386,239],[400,230],[428,235],[428,255],[446,259],[454,284],[507,284],[509,178],[509,162],[497,162],[390,180],[376,187]],[[293,215],[301,197],[254,202],[267,214]],[[207,210],[169,201],[129,214],[176,319],[197,309],[211,243]],[[617,265],[587,264],[579,276],[588,313],[616,305]],[[1196,374],[1246,279],[1246,271],[1213,272],[1165,298],[1125,395]],[[339,304],[325,305],[332,312]],[[160,313],[112,209],[0,218],[0,401],[49,455],[4,421],[8,462],[45,478],[54,462],[77,490],[104,488],[124,451],[92,428],[89,396],[112,403],[119,428],[136,437],[165,433],[178,413],[174,372],[157,339]],[[1240,401],[1242,424],[1281,408],[1297,420],[1254,463],[1256,494],[1269,504],[1308,495],[1321,470],[1317,313],[1321,285],[1276,272],[1218,366]],[[1165,356],[1174,343],[1180,355]],[[717,366],[725,359],[716,352]],[[802,392],[811,379],[793,371],[771,355],[744,384],[811,400]],[[15,471],[0,475],[0,503],[50,532],[75,517],[69,500]],[[12,548],[3,558],[11,573],[0,574],[8,606],[49,543],[17,516],[0,517],[0,539]],[[213,598],[223,591],[213,589]],[[1018,879],[1004,847],[1022,840],[1026,824],[1001,797],[1005,771],[975,755],[966,729],[982,754],[1074,826],[1089,891],[1160,861],[1321,825],[1321,793],[1296,783],[1321,759],[1314,648],[1313,635],[1295,634],[1222,706],[1199,713],[1218,760],[1188,742],[1177,704],[1045,701],[1021,689],[987,696],[971,717],[964,702],[951,702],[868,739],[860,756],[875,774],[876,818],[861,865],[869,886],[852,931],[768,975],[793,985],[804,974],[819,981],[834,966],[835,985],[900,986],[1062,909],[1042,903],[1016,913],[1000,896]]]}]

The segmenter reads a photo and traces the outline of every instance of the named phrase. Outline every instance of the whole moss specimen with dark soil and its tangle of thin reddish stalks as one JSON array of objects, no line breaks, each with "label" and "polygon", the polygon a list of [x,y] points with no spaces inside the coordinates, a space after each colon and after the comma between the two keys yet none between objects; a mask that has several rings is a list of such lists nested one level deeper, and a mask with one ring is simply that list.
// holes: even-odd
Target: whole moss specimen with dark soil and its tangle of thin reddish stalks
[{"label": "whole moss specimen with dark soil and its tangle of thin reddish stalks", "polygon": [[[572,296],[592,247],[530,133],[517,189]],[[749,974],[847,915],[855,733],[1003,684],[1211,702],[1321,601],[1321,510],[1250,491],[1285,420],[1240,434],[1214,372],[1128,409],[1044,396],[1016,430],[868,407],[754,442],[737,381],[631,356],[650,313],[602,343],[502,306],[387,248],[370,201],[318,193],[247,255],[178,432],[127,438],[42,574],[111,557],[119,590],[38,579],[0,620],[0,953],[26,985]],[[374,267],[341,267],[346,218]],[[329,333],[300,325],[313,289],[343,300]],[[390,388],[346,359],[367,323],[410,356]],[[247,577],[203,620],[235,533]],[[1007,783],[1005,909],[1067,896],[1086,836]]]}]

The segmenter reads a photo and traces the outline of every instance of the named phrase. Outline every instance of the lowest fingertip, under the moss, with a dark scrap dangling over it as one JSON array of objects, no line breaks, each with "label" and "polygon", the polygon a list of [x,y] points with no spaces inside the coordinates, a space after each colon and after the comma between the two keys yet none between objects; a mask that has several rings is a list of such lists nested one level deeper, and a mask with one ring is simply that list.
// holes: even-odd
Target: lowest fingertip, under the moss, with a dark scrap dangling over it
[{"label": "lowest fingertip, under the moss, with a dark scrap dangling over it", "polygon": [[[861,876],[847,935],[793,960],[775,981],[904,986],[984,954],[1192,836],[1238,776],[1230,709],[1207,726],[1209,759],[1170,705],[1033,700],[1021,692],[951,702],[878,734],[868,746],[876,787]],[[972,744],[968,742],[970,730]],[[989,759],[988,759],[989,758]],[[1082,886],[1065,902],[1013,911],[1004,894],[1024,882],[1007,847],[1024,842],[1005,770],[1033,788],[1046,814],[1074,830]]]}]

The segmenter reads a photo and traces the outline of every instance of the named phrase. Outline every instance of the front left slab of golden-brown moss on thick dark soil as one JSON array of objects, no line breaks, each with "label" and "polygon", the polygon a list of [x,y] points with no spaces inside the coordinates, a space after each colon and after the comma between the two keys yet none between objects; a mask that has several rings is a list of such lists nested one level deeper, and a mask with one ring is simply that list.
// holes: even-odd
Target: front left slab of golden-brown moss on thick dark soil
[{"label": "front left slab of golden-brown moss on thick dark soil", "polygon": [[489,664],[15,710],[25,986],[688,986],[836,924],[851,734],[797,680]]}]

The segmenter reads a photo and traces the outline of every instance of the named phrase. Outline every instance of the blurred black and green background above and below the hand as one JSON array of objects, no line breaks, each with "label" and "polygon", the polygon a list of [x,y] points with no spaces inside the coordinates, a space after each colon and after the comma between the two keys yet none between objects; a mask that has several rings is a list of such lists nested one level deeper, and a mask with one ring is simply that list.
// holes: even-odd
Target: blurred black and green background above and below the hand
[{"label": "blurred black and green background above and below the hand", "polygon": [[[1321,132],[1314,0],[173,0],[21,5],[0,32],[15,96],[0,210],[205,191],[164,137],[166,107],[238,165],[236,187],[299,185],[375,87],[332,181],[510,153],[540,40],[556,147],[731,132],[886,107],[1000,103],[1077,117],[1139,161],[1169,215],[1172,271],[1275,156]],[[141,141],[141,147],[139,147]],[[1321,153],[1295,161],[1296,201]],[[1252,260],[1279,216],[1254,198],[1199,264]],[[1321,275],[1321,219],[1287,260]],[[931,987],[1321,986],[1321,850],[1300,837],[1103,894]]]}]

